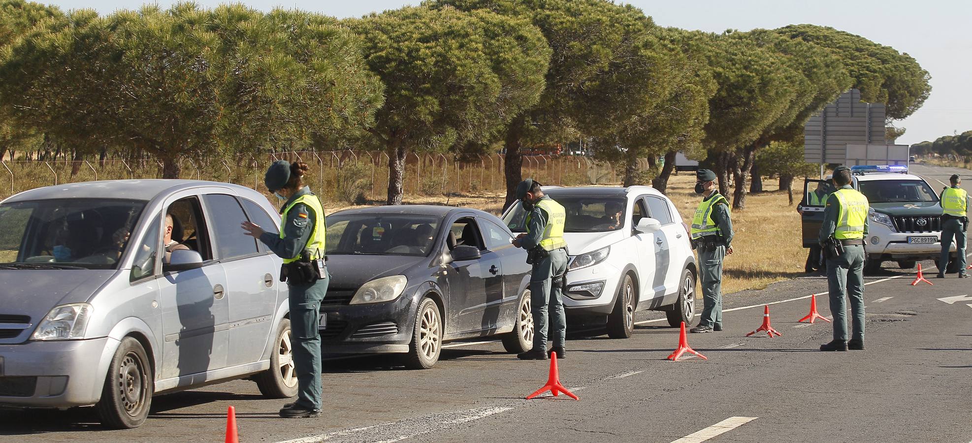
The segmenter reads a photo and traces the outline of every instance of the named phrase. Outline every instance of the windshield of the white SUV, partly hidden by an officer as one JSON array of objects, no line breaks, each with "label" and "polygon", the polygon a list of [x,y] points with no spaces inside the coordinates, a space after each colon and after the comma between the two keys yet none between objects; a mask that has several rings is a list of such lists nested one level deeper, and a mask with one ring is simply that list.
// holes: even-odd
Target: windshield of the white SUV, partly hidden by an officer
[{"label": "windshield of the white SUV, partly hidden by an officer", "polygon": [[[567,220],[564,232],[607,232],[624,227],[623,197],[594,196],[557,196],[553,198],[564,206]],[[503,222],[513,232],[526,232],[527,213],[523,205],[516,202],[513,209],[506,213]]]}]

